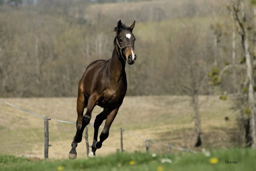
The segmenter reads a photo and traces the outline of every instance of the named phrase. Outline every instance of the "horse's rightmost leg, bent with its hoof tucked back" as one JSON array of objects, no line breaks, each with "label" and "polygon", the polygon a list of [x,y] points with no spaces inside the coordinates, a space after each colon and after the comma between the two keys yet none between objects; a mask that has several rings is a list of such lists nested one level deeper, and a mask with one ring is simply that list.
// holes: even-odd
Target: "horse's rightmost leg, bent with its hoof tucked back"
[{"label": "horse's rightmost leg, bent with its hoof tucked back", "polygon": [[[92,149],[95,148],[95,151],[96,151],[96,149],[101,148],[103,141],[105,141],[108,138],[110,126],[116,117],[118,109],[119,108],[108,109],[109,114],[107,115],[104,128],[100,134],[100,141],[96,141],[92,145]],[[92,155],[94,156],[94,154],[91,154],[91,156]],[[89,157],[90,157],[90,155],[89,155]]]}]

